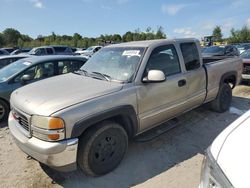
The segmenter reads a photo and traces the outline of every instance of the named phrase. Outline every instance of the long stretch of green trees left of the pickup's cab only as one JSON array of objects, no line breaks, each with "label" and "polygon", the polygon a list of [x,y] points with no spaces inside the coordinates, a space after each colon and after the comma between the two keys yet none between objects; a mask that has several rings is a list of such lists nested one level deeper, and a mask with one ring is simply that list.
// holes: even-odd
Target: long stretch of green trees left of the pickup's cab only
[{"label": "long stretch of green trees left of the pickup's cab only", "polygon": [[0,33],[0,47],[36,47],[44,45],[67,45],[72,47],[86,48],[93,45],[101,45],[107,41],[113,43],[130,42],[139,40],[151,40],[151,39],[165,39],[167,38],[164,33],[163,27],[158,27],[154,31],[151,27],[148,27],[145,31],[140,29],[134,32],[128,31],[124,35],[100,35],[96,38],[83,37],[79,33],[75,33],[73,36],[58,35],[52,32],[51,35],[42,36],[37,38],[20,33],[17,29],[7,28]]}]

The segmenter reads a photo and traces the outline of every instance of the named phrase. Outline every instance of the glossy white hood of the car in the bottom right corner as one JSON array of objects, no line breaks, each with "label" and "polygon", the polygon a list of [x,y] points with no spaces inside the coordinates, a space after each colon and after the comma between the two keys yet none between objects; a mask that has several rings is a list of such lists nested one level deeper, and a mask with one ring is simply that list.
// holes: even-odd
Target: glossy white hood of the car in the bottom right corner
[{"label": "glossy white hood of the car in the bottom right corner", "polygon": [[250,111],[223,131],[213,142],[211,152],[234,187],[250,187]]}]

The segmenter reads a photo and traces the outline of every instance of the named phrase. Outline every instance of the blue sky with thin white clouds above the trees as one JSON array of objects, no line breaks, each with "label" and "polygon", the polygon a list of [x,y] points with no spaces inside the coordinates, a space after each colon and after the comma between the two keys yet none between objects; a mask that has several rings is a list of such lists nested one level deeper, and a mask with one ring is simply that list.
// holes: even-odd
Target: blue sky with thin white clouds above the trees
[{"label": "blue sky with thin white clouds above the trees", "polygon": [[32,37],[79,33],[124,34],[148,26],[168,37],[210,35],[216,25],[250,26],[250,0],[0,0],[0,32],[13,27]]}]

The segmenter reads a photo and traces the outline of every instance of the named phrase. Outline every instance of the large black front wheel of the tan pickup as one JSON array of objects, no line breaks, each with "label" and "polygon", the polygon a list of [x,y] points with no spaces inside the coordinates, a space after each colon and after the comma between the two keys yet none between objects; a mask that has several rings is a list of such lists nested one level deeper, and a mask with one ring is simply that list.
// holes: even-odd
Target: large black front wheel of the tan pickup
[{"label": "large black front wheel of the tan pickup", "polygon": [[122,126],[104,121],[80,138],[77,161],[86,175],[100,176],[114,170],[128,147],[128,135]]}]

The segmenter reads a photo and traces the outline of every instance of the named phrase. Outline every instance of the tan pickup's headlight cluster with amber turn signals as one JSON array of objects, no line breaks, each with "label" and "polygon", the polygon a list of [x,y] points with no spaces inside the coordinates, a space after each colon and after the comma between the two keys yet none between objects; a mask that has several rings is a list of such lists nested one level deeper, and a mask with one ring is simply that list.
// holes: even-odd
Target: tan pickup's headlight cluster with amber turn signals
[{"label": "tan pickup's headlight cluster with amber turn signals", "polygon": [[65,138],[64,121],[57,117],[32,116],[32,135],[41,140],[58,141]]}]

